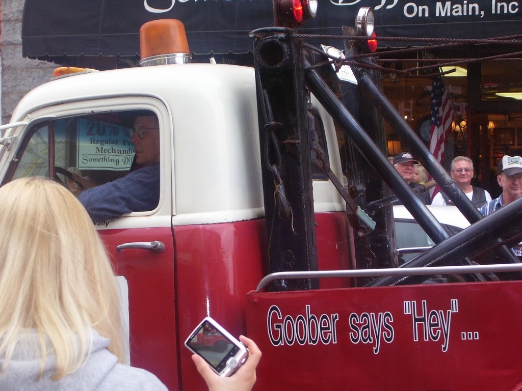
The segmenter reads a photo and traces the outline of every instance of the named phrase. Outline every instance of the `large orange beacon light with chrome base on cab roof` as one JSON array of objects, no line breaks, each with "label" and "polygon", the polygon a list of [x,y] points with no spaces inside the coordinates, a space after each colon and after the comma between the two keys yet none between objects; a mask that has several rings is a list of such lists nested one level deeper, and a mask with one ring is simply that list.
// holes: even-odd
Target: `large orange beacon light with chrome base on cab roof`
[{"label": "large orange beacon light with chrome base on cab roof", "polygon": [[191,62],[185,26],[177,19],[158,19],[139,29],[141,66]]}]

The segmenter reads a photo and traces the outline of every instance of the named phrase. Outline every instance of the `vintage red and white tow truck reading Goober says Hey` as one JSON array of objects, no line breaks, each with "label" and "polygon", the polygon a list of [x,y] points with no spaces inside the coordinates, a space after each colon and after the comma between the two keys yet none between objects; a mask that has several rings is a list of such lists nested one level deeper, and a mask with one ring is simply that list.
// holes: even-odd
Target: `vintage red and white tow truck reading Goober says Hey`
[{"label": "vintage red and white tow truck reading Goober says Hey", "polygon": [[[327,58],[285,27],[300,23],[301,3],[287,3],[275,7],[278,27],[252,33],[254,68],[186,63],[183,44],[184,55],[151,49],[144,59],[163,65],[85,70],[35,88],[1,128],[2,184],[54,177],[55,167],[100,183],[122,177],[133,157],[126,118],[158,116],[158,205],[96,225],[122,287],[130,362],[171,390],[204,389],[183,341],[207,315],[259,345],[257,390],[522,389],[522,267],[497,241],[519,240],[522,204],[477,216],[371,72],[354,67],[352,95],[370,96],[414,140],[474,223],[450,237],[364,131],[369,119],[331,91],[332,67],[312,66]],[[302,4],[305,16],[313,4]],[[394,267],[391,208],[355,202],[356,186],[343,185],[334,119],[364,156],[352,172],[381,175],[436,246]],[[385,246],[372,252],[365,238],[382,226]],[[470,258],[486,247],[499,250]]]}]

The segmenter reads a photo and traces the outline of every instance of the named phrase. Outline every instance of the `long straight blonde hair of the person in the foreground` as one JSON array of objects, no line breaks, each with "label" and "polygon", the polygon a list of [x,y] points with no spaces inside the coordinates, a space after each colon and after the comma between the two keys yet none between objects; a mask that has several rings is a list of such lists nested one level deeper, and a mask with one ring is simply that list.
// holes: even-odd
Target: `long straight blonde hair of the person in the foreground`
[{"label": "long straight blonde hair of the person in the foreground", "polygon": [[33,330],[40,376],[50,352],[59,380],[88,356],[91,331],[110,339],[123,362],[122,324],[111,263],[80,202],[45,178],[0,188],[0,355],[7,367],[16,344]]}]

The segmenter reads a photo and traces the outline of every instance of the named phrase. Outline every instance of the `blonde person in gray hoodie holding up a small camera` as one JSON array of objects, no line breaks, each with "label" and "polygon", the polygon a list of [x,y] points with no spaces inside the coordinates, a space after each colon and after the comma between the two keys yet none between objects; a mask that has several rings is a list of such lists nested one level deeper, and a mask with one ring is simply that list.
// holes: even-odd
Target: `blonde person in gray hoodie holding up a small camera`
[{"label": "blonde person in gray hoodie holding up a small camera", "polygon": [[[0,188],[0,199],[0,390],[167,390],[122,364],[114,273],[76,197],[30,177]],[[212,391],[254,385],[261,352],[241,340],[251,359],[226,380],[193,358]]]}]

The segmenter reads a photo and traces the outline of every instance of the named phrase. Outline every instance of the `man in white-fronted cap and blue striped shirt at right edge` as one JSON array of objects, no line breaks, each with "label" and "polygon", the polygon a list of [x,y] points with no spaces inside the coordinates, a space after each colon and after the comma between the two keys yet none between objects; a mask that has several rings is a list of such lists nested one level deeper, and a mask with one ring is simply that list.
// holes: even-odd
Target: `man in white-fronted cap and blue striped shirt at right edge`
[{"label": "man in white-fronted cap and blue striped shirt at right edge", "polygon": [[[504,155],[497,167],[497,173],[499,175],[496,180],[502,187],[502,194],[481,207],[482,216],[488,216],[522,197],[522,157]],[[515,246],[511,250],[515,255],[522,256],[522,246]]]}]

